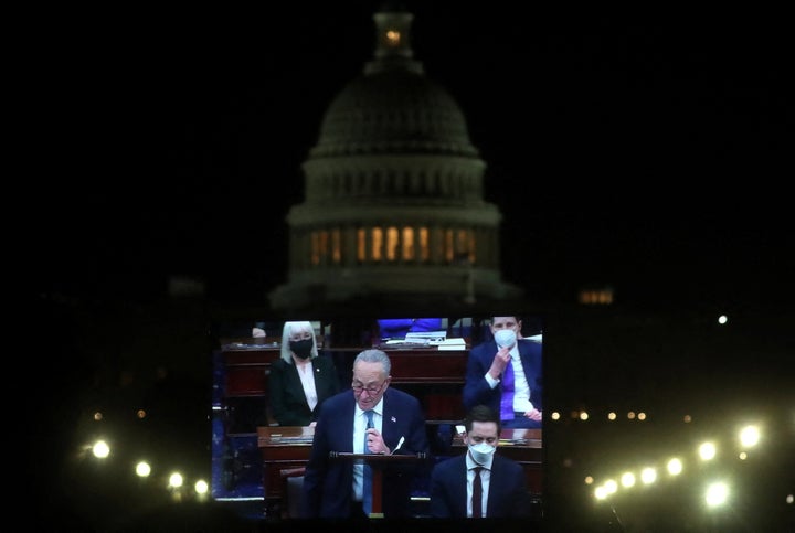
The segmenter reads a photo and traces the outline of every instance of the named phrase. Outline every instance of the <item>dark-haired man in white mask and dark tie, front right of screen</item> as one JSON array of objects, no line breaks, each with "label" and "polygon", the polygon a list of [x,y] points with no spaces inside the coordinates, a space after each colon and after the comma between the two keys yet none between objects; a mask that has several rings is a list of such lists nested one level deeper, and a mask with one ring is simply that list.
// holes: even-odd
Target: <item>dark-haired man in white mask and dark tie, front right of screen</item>
[{"label": "dark-haired man in white mask and dark tie, front right of screen", "polygon": [[431,472],[431,516],[529,516],[521,465],[495,454],[500,433],[497,413],[477,405],[464,427],[467,452],[436,463]]}]

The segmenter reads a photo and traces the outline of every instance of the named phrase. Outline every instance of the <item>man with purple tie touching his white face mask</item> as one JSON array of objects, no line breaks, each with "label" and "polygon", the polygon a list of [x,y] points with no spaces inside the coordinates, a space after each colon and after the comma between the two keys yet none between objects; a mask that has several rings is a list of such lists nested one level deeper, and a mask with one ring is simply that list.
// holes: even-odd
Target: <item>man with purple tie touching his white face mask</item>
[{"label": "man with purple tie touching his white face mask", "polygon": [[506,428],[541,428],[541,343],[518,338],[521,320],[492,317],[492,340],[469,351],[464,408],[488,405]]}]

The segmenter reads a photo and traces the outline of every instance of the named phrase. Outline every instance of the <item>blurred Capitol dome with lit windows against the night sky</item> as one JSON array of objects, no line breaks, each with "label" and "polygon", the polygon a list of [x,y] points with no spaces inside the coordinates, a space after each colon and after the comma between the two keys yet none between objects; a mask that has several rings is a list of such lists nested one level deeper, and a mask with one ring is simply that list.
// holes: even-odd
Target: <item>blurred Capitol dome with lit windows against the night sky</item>
[{"label": "blurred Capitol dome with lit windows against the night sky", "polygon": [[288,281],[272,306],[520,297],[501,280],[486,163],[457,103],[413,58],[413,15],[373,19],[373,60],[331,102],[303,164],[306,198],[287,215]]}]

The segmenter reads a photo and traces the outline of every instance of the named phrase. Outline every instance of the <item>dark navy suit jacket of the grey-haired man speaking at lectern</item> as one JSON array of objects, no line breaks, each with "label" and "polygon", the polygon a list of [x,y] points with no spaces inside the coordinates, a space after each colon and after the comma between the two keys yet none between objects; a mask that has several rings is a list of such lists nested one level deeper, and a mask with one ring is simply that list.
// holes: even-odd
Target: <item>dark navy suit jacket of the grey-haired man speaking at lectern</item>
[{"label": "dark navy suit jacket of the grey-haired man speaking at lectern", "polygon": [[[352,500],[353,463],[329,459],[330,451],[353,451],[353,391],[343,391],[320,407],[309,461],[304,476],[303,518],[348,518]],[[428,454],[425,415],[420,401],[410,394],[386,388],[383,397],[381,433],[394,450],[401,437],[405,441],[395,454]],[[427,472],[427,461],[395,461],[383,469],[382,511],[384,518],[406,518],[412,483]]]}]

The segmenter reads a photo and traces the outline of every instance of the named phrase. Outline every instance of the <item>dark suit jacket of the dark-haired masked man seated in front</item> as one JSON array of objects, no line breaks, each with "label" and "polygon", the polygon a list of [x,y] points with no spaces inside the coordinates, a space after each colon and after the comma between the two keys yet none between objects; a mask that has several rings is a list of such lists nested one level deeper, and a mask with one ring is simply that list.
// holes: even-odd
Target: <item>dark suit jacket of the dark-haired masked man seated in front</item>
[{"label": "dark suit jacket of the dark-haired masked man seated in front", "polygon": [[[431,509],[433,518],[467,518],[466,454],[436,463],[431,472]],[[486,518],[530,515],[530,494],[524,471],[515,460],[499,455],[491,461]]]}]

